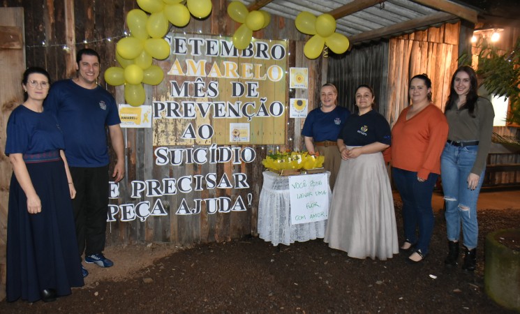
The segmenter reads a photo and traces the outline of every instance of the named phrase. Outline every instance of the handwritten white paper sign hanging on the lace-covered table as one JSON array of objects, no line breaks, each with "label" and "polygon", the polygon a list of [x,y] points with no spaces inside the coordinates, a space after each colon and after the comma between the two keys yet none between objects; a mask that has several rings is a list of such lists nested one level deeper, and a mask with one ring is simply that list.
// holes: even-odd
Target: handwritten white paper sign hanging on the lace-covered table
[{"label": "handwritten white paper sign hanging on the lace-covered table", "polygon": [[314,223],[329,216],[329,183],[326,173],[289,177],[291,225]]}]

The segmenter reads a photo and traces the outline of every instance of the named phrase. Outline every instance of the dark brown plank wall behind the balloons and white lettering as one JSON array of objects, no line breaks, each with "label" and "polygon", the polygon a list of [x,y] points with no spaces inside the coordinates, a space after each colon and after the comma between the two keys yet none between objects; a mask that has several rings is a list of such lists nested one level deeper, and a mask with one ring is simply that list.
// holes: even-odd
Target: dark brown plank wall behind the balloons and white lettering
[{"label": "dark brown plank wall behind the balloons and white lettering", "polygon": [[[21,6],[25,11],[25,27],[27,36],[27,66],[43,66],[50,72],[52,80],[61,80],[75,75],[75,52],[83,47],[91,47],[101,54],[101,68],[116,66],[115,45],[124,36],[126,15],[129,10],[138,8],[135,0],[4,0],[3,6]],[[213,0],[211,15],[204,20],[191,17],[188,26],[181,29],[186,33],[202,33],[211,35],[232,36],[239,24],[230,20],[226,13],[229,1]],[[308,97],[309,108],[312,109],[319,101],[319,86],[322,81],[322,63],[318,58],[309,61],[303,55],[304,36],[295,29],[294,22],[283,17],[272,16],[271,23],[265,29],[253,33],[255,38],[288,40],[291,66],[309,68],[309,89],[288,92],[289,97]],[[157,61],[154,61],[156,64]],[[160,64],[158,64],[160,65]],[[98,82],[111,91],[118,103],[124,103],[121,87],[111,87],[105,84],[103,75]],[[316,91],[318,87],[318,91]],[[147,103],[151,103],[157,91],[154,87],[146,87]],[[309,110],[310,110],[309,109]],[[287,114],[288,115],[288,114]],[[170,213],[168,216],[149,217],[145,222],[132,220],[130,222],[109,223],[107,226],[107,244],[141,244],[149,241],[165,241],[179,245],[191,245],[207,241],[223,241],[242,237],[244,234],[256,234],[258,200],[262,187],[261,160],[271,149],[301,149],[302,140],[299,136],[303,119],[288,119],[286,139],[282,143],[272,145],[252,145],[256,151],[253,163],[242,165],[183,165],[181,167],[154,166],[154,156],[151,147],[153,130],[125,129],[126,140],[126,177],[119,185],[121,195],[128,195],[130,183],[133,180],[162,179],[163,177],[181,177],[184,175],[206,174],[216,172],[218,177],[223,173],[243,172],[248,176],[247,190],[221,190],[216,193],[191,193],[183,195],[188,200],[193,198],[241,195],[248,200],[248,193],[253,195],[251,207],[244,212],[231,214],[202,214],[196,218],[178,216]],[[1,173],[1,176],[6,174]],[[177,209],[181,197],[172,195],[164,201],[169,208]],[[139,200],[120,197],[110,200],[111,204],[135,203]],[[152,200],[153,201],[153,200]]]}]

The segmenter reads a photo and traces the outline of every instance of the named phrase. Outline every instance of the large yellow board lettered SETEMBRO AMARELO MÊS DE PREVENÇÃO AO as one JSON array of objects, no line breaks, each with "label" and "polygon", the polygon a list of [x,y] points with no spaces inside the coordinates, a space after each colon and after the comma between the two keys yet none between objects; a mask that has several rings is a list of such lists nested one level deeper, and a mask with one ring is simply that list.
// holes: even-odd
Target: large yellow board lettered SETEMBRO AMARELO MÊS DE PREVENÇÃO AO
[{"label": "large yellow board lettered SETEMBRO AMARELO M\u00caS DE PREVEN\u00c7\u00c3O AO", "polygon": [[[172,57],[152,102],[154,146],[285,144],[287,43],[170,33]],[[247,124],[249,132],[232,124]],[[244,134],[244,135],[242,135]]]}]

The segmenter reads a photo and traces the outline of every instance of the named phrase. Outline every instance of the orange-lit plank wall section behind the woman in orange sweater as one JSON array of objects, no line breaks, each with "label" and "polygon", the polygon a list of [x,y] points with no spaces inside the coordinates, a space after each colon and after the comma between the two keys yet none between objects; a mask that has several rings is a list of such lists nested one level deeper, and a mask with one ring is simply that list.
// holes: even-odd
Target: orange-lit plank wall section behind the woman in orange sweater
[{"label": "orange-lit plank wall section behind the woman in orange sweater", "polygon": [[459,57],[459,27],[460,23],[443,24],[390,39],[385,116],[390,126],[408,107],[408,82],[417,74],[426,73],[430,77],[433,103],[444,110]]}]

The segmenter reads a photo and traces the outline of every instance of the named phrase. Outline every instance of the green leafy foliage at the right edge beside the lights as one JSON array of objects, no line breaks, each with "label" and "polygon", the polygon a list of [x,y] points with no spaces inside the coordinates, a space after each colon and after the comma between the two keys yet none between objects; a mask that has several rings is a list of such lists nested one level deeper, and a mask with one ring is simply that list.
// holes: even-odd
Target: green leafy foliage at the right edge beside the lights
[{"label": "green leafy foliage at the right edge beside the lights", "polygon": [[[499,50],[494,45],[482,40],[479,45],[477,75],[482,77],[482,84],[489,92],[509,98],[511,110],[507,122],[520,124],[520,38],[511,50]],[[463,54],[459,61],[471,64],[471,56]]]}]

